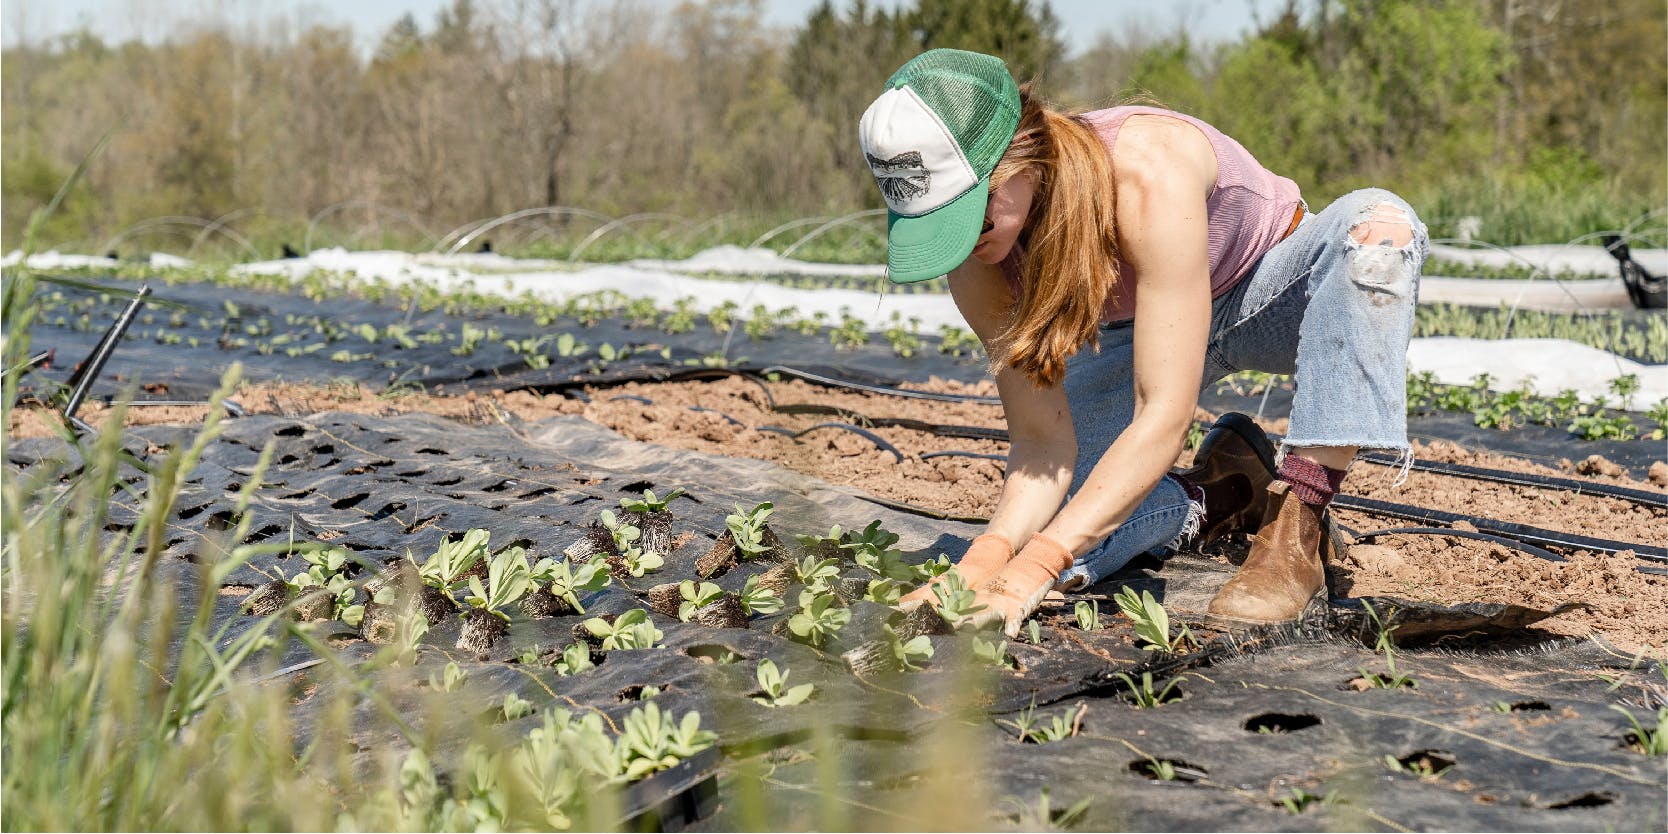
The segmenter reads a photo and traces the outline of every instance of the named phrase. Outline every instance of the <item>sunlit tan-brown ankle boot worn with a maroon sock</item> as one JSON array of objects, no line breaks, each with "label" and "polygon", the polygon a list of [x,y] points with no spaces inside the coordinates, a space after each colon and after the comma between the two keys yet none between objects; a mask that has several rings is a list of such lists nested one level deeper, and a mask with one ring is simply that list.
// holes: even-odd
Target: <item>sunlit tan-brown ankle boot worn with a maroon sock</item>
[{"label": "sunlit tan-brown ankle boot worn with a maroon sock", "polygon": [[1248,629],[1293,622],[1313,604],[1326,604],[1321,554],[1331,549],[1324,507],[1311,507],[1276,480],[1268,487],[1268,517],[1251,537],[1251,555],[1211,599],[1206,622]]}]

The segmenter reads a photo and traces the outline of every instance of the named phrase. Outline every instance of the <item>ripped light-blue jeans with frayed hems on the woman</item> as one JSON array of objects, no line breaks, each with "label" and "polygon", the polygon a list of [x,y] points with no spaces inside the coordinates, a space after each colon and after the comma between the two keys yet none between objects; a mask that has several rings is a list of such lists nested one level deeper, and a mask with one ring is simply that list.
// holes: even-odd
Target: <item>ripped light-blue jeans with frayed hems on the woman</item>
[{"label": "ripped light-blue jeans with frayed hems on the woman", "polygon": [[[1359,240],[1396,227],[1406,245]],[[1409,235],[1411,230],[1411,235]],[[1383,188],[1346,193],[1303,219],[1234,289],[1211,304],[1199,390],[1238,370],[1293,374],[1296,395],[1281,454],[1293,447],[1361,447],[1406,457],[1406,364],[1424,224]],[[1073,494],[1134,415],[1134,329],[1101,327],[1101,350],[1066,362],[1066,397],[1078,432]],[[1091,585],[1144,552],[1163,555],[1186,537],[1198,509],[1173,477],[1113,534],[1059,577]]]}]

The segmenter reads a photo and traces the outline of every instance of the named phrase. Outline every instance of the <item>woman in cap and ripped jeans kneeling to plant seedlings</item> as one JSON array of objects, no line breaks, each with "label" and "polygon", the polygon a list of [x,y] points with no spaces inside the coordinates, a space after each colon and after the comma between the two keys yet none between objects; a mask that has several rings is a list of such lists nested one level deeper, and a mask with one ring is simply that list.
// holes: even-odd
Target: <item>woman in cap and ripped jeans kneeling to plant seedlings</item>
[{"label": "woman in cap and ripped jeans kneeling to plant seedlings", "polygon": [[[1361,449],[1409,454],[1413,208],[1364,188],[1309,214],[1294,182],[1198,118],[1063,113],[974,52],[906,63],[859,133],[891,208],[891,280],[949,275],[1007,414],[1007,477],[957,564],[986,617],[1017,634],[1056,587],[1233,532],[1256,535],[1213,622],[1324,604],[1344,470]],[[1296,374],[1278,469],[1229,415],[1171,472],[1199,390],[1236,370]]]}]

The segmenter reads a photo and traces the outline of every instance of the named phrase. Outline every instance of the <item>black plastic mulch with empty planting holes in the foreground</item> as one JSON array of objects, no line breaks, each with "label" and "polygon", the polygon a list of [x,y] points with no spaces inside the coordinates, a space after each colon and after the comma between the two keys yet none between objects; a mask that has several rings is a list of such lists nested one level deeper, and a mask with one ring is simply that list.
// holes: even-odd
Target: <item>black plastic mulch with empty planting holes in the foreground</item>
[{"label": "black plastic mulch with empty planting holes in the foreground", "polygon": [[[140,429],[130,434],[128,447],[143,455],[150,444],[178,434]],[[661,572],[585,599],[589,615],[646,607],[642,592],[651,585],[691,577],[694,559],[721,534],[724,514],[736,504],[776,502],[771,525],[782,539],[881,519],[902,535],[912,560],[959,555],[974,532],[881,509],[766,462],[636,444],[574,417],[522,427],[425,415],[249,417],[227,424],[180,499],[170,535],[170,552],[180,559],[170,567],[182,592],[198,575],[188,559],[214,552],[210,542],[234,522],[235,492],[267,442],[275,444],[275,459],[250,510],[250,540],[294,535],[347,547],[364,565],[357,579],[402,559],[407,549],[422,559],[445,534],[470,527],[490,529],[494,549],[519,542],[535,555],[557,555],[620,497],[647,487],[662,494],[689,489],[691,497],[674,502],[672,510],[674,534],[692,534],[692,540]],[[25,470],[55,454],[62,445],[53,440],[7,449],[8,464]],[[133,509],[118,502],[112,529],[132,520]],[[717,582],[736,590],[771,564],[742,564]],[[237,610],[242,597],[235,594],[300,567],[299,557],[252,560],[225,579],[217,622],[254,622]],[[877,636],[889,617],[887,609],[857,602],[846,642],[831,652],[772,634],[787,612],[757,617],[749,629],[656,615],[664,649],[607,652],[597,669],[572,677],[512,661],[532,646],[567,646],[584,617],[514,614],[509,637],[485,656],[455,649],[457,624],[442,622],[425,639],[415,671],[377,672],[379,692],[415,719],[424,692],[415,681],[455,661],[469,672],[464,707],[427,719],[467,727],[485,721],[507,692],[540,711],[599,711],[617,721],[642,687],[659,687],[664,709],[699,709],[702,726],[721,737],[719,804],[694,824],[697,829],[737,827],[742,807],[726,797],[757,784],[764,786],[766,819],[777,827],[827,826],[824,807],[847,814],[841,817],[846,827],[917,827],[912,814],[919,811],[897,811],[896,804],[946,772],[977,772],[991,797],[1014,801],[997,809],[1012,819],[991,822],[1024,827],[1036,826],[1026,814],[1036,814],[1044,787],[1056,811],[1091,799],[1079,822],[1089,829],[1663,827],[1661,761],[1628,749],[1626,726],[1610,709],[1621,704],[1641,717],[1651,714],[1663,697],[1658,672],[1633,669],[1631,659],[1601,644],[1550,641],[1525,627],[1548,612],[1408,605],[1394,615],[1424,629],[1423,646],[1401,649],[1394,659],[1396,671],[1411,676],[1416,687],[1358,691],[1351,681],[1388,672],[1384,656],[1346,639],[1373,637],[1363,634],[1358,610],[1343,607],[1306,629],[1238,644],[1218,637],[1169,657],[1136,646],[1109,600],[1123,584],[1144,587],[1186,619],[1201,610],[1228,570],[1201,557],[1141,562],[1048,609],[1041,646],[1026,637],[1011,642],[1019,669],[987,671],[987,677],[969,677],[954,662],[966,644],[952,636],[931,637],[936,656],[924,672],[852,676],[834,652]],[[846,574],[862,575],[849,564]],[[796,589],[787,594],[789,600],[796,595]],[[1071,620],[1078,600],[1098,604],[1106,627],[1078,629]],[[1406,605],[1376,604],[1386,614]],[[1498,624],[1511,637],[1480,636],[1480,624]],[[350,662],[369,656],[370,646],[354,629],[320,626]],[[732,656],[736,662],[722,662]],[[289,646],[274,667],[309,657],[307,649]],[[754,666],[764,657],[789,669],[792,682],[817,684],[817,696],[799,707],[754,704],[747,696],[756,691]],[[1116,672],[1139,679],[1143,671],[1154,672],[1159,687],[1176,681],[1183,697],[1138,709]],[[325,696],[335,684],[327,676],[302,671],[280,681],[297,692],[302,726],[332,701]],[[1079,734],[1051,744],[1017,741],[1002,722],[1032,702],[1042,717],[1083,704]],[[537,722],[537,716],[524,717],[492,732],[512,739]],[[360,709],[349,741],[362,751],[399,744],[369,707]],[[1154,761],[1169,762],[1176,779],[1151,779]],[[1408,764],[1393,767],[1391,761]],[[1419,767],[1428,776],[1413,772]],[[832,799],[824,802],[824,794]],[[1283,801],[1301,812],[1291,814]]]}]

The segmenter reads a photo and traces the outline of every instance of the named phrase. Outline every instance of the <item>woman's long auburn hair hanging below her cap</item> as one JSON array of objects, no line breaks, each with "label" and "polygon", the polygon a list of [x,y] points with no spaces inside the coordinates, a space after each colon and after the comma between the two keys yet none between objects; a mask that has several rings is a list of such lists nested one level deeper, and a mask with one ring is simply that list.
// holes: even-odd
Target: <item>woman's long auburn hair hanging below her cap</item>
[{"label": "woman's long auburn hair hanging below her cap", "polygon": [[1053,108],[1031,83],[1019,87],[1019,127],[991,172],[991,190],[1027,170],[1037,187],[1019,234],[1019,297],[991,345],[991,367],[1053,387],[1068,357],[1099,350],[1101,310],[1118,287],[1113,160],[1079,113]]}]

